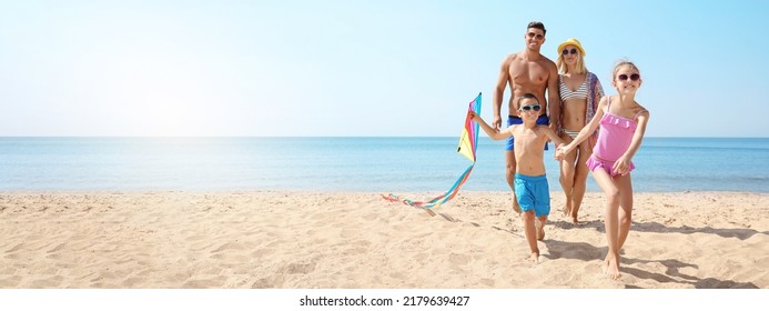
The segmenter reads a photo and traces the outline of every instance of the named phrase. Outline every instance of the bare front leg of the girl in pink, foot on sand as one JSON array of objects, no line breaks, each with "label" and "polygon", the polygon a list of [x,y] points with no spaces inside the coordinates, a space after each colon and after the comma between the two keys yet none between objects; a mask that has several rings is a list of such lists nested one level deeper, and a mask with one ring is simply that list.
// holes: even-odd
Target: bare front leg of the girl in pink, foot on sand
[{"label": "bare front leg of the girl in pink, foot on sand", "polygon": [[618,279],[619,274],[619,221],[618,221],[618,210],[619,210],[619,188],[615,184],[615,181],[606,172],[606,170],[598,168],[593,171],[593,177],[596,183],[604,190],[606,195],[606,211],[604,214],[604,223],[606,227],[606,240],[609,251],[606,253],[606,260],[604,261],[604,273],[606,273],[610,279]]}]

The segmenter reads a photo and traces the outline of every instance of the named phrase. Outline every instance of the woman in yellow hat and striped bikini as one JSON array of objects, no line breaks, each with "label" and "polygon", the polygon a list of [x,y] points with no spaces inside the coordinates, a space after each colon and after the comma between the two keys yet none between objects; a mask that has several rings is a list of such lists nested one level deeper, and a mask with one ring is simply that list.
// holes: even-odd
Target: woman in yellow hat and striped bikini
[{"label": "woman in yellow hat and striped bikini", "polygon": [[[595,116],[604,88],[598,77],[585,68],[585,49],[577,39],[570,38],[558,46],[556,64],[560,91],[559,136],[569,143]],[[566,194],[564,214],[571,217],[574,223],[579,223],[577,215],[589,172],[585,162],[593,153],[597,133],[565,154],[560,162],[560,187]]]}]

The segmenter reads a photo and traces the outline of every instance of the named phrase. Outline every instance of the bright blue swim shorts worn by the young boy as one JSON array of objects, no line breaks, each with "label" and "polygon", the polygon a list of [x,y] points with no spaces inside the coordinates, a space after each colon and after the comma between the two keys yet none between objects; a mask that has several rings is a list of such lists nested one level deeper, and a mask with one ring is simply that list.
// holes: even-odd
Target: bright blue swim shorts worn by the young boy
[{"label": "bright blue swim shorts worn by the young boy", "polygon": [[534,209],[536,217],[550,214],[550,189],[547,185],[547,177],[525,175],[515,173],[515,199],[518,200],[522,211]]}]

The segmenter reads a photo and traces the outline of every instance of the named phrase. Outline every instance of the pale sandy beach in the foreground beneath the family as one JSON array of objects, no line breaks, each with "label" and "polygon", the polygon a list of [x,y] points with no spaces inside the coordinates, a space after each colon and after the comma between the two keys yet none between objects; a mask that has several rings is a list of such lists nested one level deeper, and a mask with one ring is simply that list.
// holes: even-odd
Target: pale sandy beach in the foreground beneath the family
[{"label": "pale sandy beach in the foreground beneath the family", "polygon": [[537,264],[506,192],[432,214],[381,194],[4,192],[0,288],[769,288],[766,193],[636,193],[618,281],[600,270],[599,192],[580,225],[553,192]]}]

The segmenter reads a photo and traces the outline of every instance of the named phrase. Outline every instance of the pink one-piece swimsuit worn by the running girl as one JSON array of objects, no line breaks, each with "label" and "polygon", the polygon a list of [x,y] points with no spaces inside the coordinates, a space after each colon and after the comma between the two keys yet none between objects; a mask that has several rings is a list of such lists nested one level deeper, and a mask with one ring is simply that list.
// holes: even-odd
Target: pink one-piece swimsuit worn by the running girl
[{"label": "pink one-piece swimsuit worn by the running girl", "polygon": [[[623,157],[625,151],[630,147],[633,141],[633,136],[636,133],[635,119],[639,114],[646,112],[646,110],[639,111],[633,119],[628,119],[621,116],[614,114],[609,112],[611,107],[611,97],[607,98],[608,103],[606,107],[606,113],[600,118],[600,130],[598,131],[598,142],[593,148],[593,156],[587,159],[587,167],[590,171],[595,171],[598,168],[603,168],[611,177],[618,175],[611,172],[611,167],[619,157]],[[630,169],[628,172],[633,171],[636,165],[630,162]]]}]

